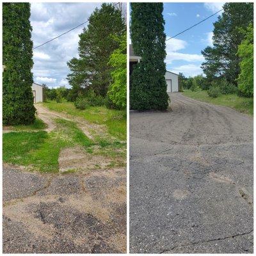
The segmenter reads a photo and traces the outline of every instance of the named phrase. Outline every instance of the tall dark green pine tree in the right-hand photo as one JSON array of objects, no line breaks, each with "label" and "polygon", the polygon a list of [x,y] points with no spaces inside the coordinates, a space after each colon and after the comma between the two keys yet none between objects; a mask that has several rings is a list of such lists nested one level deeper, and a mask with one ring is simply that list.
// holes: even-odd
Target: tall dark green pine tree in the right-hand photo
[{"label": "tall dark green pine tree in the right-hand photo", "polygon": [[230,83],[236,83],[239,74],[238,45],[246,29],[253,22],[253,3],[225,3],[223,13],[214,22],[213,47],[206,47],[202,54],[205,62],[202,69],[208,79],[224,77]]}]

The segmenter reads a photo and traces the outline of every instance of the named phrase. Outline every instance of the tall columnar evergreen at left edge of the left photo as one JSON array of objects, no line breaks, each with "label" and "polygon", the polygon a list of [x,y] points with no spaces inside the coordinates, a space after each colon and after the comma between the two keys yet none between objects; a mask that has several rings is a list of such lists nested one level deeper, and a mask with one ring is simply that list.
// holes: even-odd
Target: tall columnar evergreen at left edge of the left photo
[{"label": "tall columnar evergreen at left edge of the left photo", "polygon": [[3,124],[31,124],[33,105],[33,42],[30,4],[3,3]]}]

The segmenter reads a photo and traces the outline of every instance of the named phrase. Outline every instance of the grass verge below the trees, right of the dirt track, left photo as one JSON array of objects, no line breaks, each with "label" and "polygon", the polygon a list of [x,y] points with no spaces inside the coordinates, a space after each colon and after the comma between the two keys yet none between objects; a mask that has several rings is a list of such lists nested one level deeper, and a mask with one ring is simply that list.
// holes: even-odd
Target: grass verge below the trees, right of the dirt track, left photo
[{"label": "grass verge below the trees, right of the dirt track, left photo", "polygon": [[72,102],[57,103],[44,102],[44,106],[53,111],[83,117],[88,122],[103,124],[108,127],[108,132],[119,140],[126,140],[126,111],[108,109],[105,106],[89,107],[85,110],[76,109]]}]

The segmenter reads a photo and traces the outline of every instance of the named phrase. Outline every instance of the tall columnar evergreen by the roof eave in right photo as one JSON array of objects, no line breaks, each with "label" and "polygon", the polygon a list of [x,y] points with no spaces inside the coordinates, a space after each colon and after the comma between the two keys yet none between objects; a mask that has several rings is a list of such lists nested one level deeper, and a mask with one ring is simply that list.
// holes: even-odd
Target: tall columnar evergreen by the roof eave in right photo
[{"label": "tall columnar evergreen by the roof eave in right photo", "polygon": [[141,56],[131,74],[132,109],[168,108],[163,3],[131,3],[131,41]]}]

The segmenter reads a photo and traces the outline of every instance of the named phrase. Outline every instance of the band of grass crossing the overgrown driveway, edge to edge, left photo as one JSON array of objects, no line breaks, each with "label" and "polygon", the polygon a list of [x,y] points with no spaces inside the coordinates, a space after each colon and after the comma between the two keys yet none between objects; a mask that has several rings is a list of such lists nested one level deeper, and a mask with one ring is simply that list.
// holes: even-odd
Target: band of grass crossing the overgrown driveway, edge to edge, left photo
[{"label": "band of grass crossing the overgrown driveway, edge to edge, left photo", "polygon": [[[3,134],[3,161],[26,166],[28,170],[44,173],[59,171],[58,158],[63,148],[81,146],[88,154],[108,156],[111,167],[124,165],[125,143],[91,141],[76,123],[57,118],[52,132],[8,132]],[[97,146],[97,150],[95,147]],[[97,167],[97,166],[96,166]]]}]

